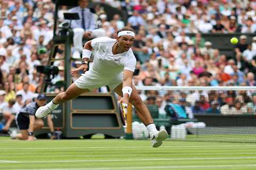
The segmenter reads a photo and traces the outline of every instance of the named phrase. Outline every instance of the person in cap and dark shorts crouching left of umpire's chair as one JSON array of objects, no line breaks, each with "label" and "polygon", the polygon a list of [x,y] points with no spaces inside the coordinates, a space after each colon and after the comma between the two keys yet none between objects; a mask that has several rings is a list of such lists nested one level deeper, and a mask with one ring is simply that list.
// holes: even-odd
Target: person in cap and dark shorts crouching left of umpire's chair
[{"label": "person in cap and dark shorts crouching left of umpire's chair", "polygon": [[[21,108],[19,114],[16,116],[16,122],[21,133],[13,133],[10,135],[12,139],[21,140],[34,140],[34,131],[43,128],[44,122],[42,119],[35,117],[36,110],[44,106],[46,103],[46,96],[44,94],[39,94],[36,101],[29,103],[25,107]],[[52,137],[54,139],[54,127],[51,115],[47,116],[47,124],[50,128]]]}]

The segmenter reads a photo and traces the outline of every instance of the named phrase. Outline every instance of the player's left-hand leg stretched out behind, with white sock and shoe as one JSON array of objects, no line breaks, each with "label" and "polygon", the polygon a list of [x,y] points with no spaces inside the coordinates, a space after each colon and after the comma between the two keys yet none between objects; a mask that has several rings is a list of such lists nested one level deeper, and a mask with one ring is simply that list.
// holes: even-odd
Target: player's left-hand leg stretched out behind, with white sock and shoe
[{"label": "player's left-hand leg stretched out behind, with white sock and shoe", "polygon": [[75,83],[72,83],[65,92],[58,94],[50,103],[45,106],[39,107],[36,111],[37,118],[43,118],[47,114],[50,114],[55,108],[59,106],[60,103],[63,103],[67,100],[74,99],[84,92],[89,92],[89,89],[80,89],[76,86]]}]

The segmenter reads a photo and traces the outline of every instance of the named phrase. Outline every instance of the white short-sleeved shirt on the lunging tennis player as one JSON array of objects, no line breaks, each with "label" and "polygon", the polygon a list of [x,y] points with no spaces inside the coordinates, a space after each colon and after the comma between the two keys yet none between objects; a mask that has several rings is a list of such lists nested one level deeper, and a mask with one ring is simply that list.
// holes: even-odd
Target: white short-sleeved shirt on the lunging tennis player
[{"label": "white short-sleeved shirt on the lunging tennis player", "polygon": [[130,48],[127,52],[113,54],[112,48],[116,39],[99,37],[92,40],[94,59],[89,72],[108,78],[117,77],[124,70],[135,70],[136,58]]}]

